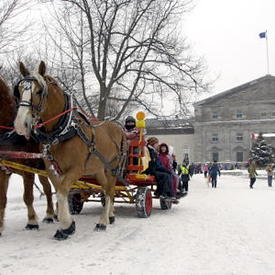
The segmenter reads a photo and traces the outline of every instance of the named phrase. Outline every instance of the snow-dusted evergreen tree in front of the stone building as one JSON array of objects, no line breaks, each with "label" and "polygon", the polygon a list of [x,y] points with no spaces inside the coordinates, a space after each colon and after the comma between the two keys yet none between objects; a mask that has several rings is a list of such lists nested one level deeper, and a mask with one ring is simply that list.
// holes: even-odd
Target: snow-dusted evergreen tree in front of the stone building
[{"label": "snow-dusted evergreen tree in front of the stone building", "polygon": [[274,160],[273,149],[266,143],[262,133],[259,134],[256,141],[252,144],[249,152],[249,160],[256,161],[260,167],[266,166]]}]

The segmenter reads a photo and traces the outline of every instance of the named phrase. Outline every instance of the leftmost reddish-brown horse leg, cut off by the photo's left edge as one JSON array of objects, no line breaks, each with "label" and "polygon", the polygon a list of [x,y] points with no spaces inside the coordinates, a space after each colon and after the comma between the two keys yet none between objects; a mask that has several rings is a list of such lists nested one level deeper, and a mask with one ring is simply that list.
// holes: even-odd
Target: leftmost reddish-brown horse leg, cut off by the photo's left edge
[{"label": "leftmost reddish-brown horse leg, cut off by the photo's left edge", "polygon": [[5,208],[7,205],[7,190],[10,174],[0,170],[0,236],[4,230]]}]

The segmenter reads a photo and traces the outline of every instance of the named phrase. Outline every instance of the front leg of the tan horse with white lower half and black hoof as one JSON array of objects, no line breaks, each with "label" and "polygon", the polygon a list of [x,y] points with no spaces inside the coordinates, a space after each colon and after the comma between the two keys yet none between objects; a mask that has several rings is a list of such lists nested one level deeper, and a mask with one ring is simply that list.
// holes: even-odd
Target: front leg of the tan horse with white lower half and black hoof
[{"label": "front leg of the tan horse with white lower half and black hoof", "polygon": [[62,180],[57,180],[55,177],[51,178],[57,192],[58,219],[60,222],[60,229],[54,235],[56,240],[65,240],[75,232],[75,222],[70,214],[68,204],[69,189],[71,184],[76,181],[75,178],[72,179],[72,175],[75,174],[72,171],[67,172],[66,175],[62,176]]}]

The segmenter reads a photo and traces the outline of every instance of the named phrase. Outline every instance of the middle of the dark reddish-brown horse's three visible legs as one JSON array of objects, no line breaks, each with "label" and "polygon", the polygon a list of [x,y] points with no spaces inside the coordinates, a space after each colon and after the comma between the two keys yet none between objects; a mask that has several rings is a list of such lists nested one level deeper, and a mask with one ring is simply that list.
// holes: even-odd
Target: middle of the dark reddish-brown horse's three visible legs
[{"label": "middle of the dark reddish-brown horse's three visible legs", "polygon": [[24,173],[24,195],[23,199],[28,209],[28,223],[25,226],[27,230],[39,229],[37,216],[33,208],[33,183],[34,183],[34,174]]}]

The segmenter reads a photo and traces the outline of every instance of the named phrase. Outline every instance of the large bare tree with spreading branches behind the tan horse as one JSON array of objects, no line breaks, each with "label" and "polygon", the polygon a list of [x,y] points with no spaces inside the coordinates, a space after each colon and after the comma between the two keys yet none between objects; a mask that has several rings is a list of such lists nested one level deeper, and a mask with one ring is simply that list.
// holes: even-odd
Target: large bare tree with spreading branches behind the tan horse
[{"label": "large bare tree with spreading branches behind the tan horse", "polygon": [[119,119],[133,104],[158,116],[164,99],[177,104],[174,115],[183,116],[192,95],[207,88],[203,63],[178,35],[191,0],[57,2],[59,34],[67,41],[59,48],[77,68],[83,97],[99,119],[110,109]]}]

